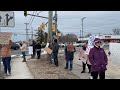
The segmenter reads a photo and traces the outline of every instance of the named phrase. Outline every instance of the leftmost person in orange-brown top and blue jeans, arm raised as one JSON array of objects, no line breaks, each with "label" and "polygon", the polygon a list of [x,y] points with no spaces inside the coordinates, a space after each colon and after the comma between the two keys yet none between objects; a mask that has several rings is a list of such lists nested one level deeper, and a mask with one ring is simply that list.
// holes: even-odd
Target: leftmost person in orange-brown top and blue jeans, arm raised
[{"label": "leftmost person in orange-brown top and blue jeans, arm raised", "polygon": [[[1,56],[2,56],[2,62],[4,65],[4,74],[5,77],[8,75],[11,75],[11,65],[10,65],[10,61],[11,61],[11,45],[12,45],[12,41],[9,41],[9,44],[7,45],[2,45],[1,48]],[[8,71],[8,73],[7,73]]]}]

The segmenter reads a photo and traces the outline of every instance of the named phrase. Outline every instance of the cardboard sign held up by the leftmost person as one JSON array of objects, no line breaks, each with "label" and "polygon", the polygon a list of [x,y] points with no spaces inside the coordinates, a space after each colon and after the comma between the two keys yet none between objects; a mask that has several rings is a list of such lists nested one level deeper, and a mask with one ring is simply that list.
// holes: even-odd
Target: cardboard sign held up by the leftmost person
[{"label": "cardboard sign held up by the leftmost person", "polygon": [[11,32],[0,32],[0,44],[9,44],[11,36],[12,36]]}]

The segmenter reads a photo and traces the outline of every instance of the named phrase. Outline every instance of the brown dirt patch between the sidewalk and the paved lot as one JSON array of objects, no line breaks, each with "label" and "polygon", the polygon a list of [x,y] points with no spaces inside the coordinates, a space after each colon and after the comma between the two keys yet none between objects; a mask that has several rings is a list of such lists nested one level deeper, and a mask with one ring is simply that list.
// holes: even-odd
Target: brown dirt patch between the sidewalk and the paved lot
[{"label": "brown dirt patch between the sidewalk and the paved lot", "polygon": [[59,55],[59,66],[50,64],[47,55],[40,60],[29,60],[27,65],[35,79],[78,79],[71,71],[64,69],[64,54]]}]

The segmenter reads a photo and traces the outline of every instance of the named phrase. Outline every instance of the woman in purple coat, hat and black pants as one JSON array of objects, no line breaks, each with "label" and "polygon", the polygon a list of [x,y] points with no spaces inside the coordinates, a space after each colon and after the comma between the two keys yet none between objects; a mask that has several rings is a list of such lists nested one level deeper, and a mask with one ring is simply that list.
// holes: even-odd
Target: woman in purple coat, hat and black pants
[{"label": "woman in purple coat, hat and black pants", "polygon": [[98,75],[100,79],[105,79],[106,66],[108,64],[107,55],[103,48],[100,48],[102,41],[99,38],[95,38],[94,47],[90,50],[89,61],[91,63],[91,74],[93,79],[97,79]]}]

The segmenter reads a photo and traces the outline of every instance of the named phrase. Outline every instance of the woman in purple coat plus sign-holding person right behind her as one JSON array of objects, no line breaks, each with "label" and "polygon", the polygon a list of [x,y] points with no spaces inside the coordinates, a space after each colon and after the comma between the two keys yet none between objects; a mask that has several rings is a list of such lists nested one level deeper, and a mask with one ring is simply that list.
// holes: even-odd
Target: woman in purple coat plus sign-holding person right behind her
[{"label": "woman in purple coat plus sign-holding person right behind her", "polygon": [[90,48],[86,43],[82,49],[80,49],[80,59],[83,61],[83,71],[85,73],[86,64],[91,73],[92,79],[105,79],[106,66],[108,64],[107,55],[102,46],[102,41],[99,38],[95,38],[94,47]]}]

